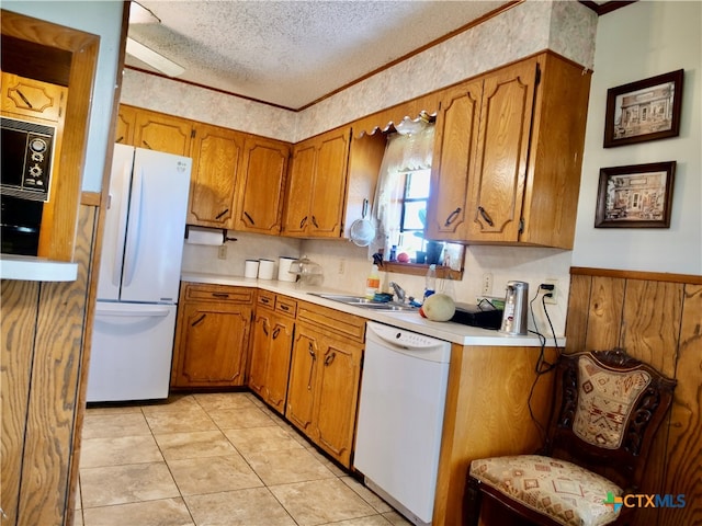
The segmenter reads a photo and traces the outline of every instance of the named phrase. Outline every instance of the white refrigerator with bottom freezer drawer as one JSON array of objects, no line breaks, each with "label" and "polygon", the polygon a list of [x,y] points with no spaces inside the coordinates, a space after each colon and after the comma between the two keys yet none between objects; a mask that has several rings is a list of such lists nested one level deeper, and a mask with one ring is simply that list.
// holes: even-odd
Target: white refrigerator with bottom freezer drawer
[{"label": "white refrigerator with bottom freezer drawer", "polygon": [[115,145],[89,402],[168,397],[192,160]]}]

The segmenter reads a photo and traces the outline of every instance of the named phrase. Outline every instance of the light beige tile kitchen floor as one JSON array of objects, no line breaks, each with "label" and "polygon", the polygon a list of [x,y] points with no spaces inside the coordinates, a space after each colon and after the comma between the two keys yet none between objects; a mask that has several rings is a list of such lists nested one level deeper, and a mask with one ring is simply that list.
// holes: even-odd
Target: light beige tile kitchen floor
[{"label": "light beige tile kitchen floor", "polygon": [[86,413],[75,526],[409,525],[248,392]]}]

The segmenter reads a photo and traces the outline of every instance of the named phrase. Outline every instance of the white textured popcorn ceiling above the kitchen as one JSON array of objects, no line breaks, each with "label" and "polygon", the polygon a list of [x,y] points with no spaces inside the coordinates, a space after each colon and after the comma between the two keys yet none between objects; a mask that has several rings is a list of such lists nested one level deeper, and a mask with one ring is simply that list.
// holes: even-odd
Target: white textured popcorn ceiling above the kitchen
[{"label": "white textured popcorn ceiling above the kitchen", "polygon": [[[304,107],[510,1],[141,0],[128,35],[185,68],[179,78]],[[149,71],[127,55],[126,64]]]}]

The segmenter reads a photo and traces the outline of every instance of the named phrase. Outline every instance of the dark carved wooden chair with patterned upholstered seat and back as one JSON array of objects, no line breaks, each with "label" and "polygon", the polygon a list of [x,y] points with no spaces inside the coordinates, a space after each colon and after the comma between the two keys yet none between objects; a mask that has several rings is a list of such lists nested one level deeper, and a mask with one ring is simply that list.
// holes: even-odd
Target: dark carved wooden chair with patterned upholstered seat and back
[{"label": "dark carved wooden chair with patterned upholstered seat and back", "polygon": [[543,455],[473,460],[466,524],[478,524],[485,494],[536,524],[599,526],[627,510],[616,498],[639,492],[676,381],[620,348],[563,355],[555,380]]}]

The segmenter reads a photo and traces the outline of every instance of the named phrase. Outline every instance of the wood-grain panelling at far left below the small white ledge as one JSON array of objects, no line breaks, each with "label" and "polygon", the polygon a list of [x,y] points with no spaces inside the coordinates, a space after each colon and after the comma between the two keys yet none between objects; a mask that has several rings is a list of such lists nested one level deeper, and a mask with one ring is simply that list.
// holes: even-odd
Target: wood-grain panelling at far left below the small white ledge
[{"label": "wood-grain panelling at far left below the small white ledge", "polygon": [[[77,396],[95,217],[95,207],[80,207],[75,282],[2,282],[2,504],[9,496],[15,508],[3,525],[63,525],[70,515],[71,450],[77,413],[84,409]],[[7,471],[5,458],[14,459]]]}]

